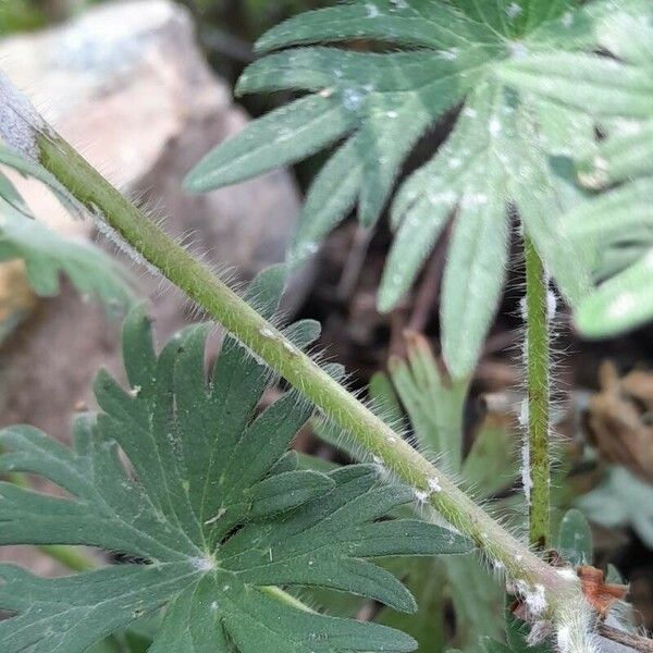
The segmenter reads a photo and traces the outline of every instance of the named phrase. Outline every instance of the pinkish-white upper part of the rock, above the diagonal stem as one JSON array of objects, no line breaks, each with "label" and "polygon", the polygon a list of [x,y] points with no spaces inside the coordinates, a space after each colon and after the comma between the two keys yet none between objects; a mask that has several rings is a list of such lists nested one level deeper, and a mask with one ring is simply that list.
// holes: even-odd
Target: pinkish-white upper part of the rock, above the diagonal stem
[{"label": "pinkish-white upper part of the rock, above the diagonal stem", "polygon": [[[248,121],[206,65],[184,9],[167,0],[103,5],[62,27],[5,40],[0,61],[94,165],[164,218],[170,233],[190,235],[209,261],[249,279],[283,260],[299,212],[286,172],[200,196],[182,192],[186,172]],[[40,188],[28,186],[27,199],[59,229],[91,229],[71,224]],[[309,281],[305,272],[294,284],[292,305]]]}]

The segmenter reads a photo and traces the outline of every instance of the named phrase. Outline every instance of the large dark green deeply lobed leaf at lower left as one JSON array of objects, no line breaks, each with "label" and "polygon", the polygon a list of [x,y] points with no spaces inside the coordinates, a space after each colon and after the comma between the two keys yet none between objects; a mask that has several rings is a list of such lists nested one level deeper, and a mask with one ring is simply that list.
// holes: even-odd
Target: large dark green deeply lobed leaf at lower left
[{"label": "large dark green deeply lobed leaf at lower left", "polygon": [[[250,288],[268,316],[283,279],[273,269]],[[312,322],[291,331],[297,346],[316,336]],[[74,448],[30,427],[0,434],[1,472],[45,477],[69,495],[2,483],[0,544],[83,544],[145,560],[53,580],[0,566],[0,608],[13,614],[0,621],[3,653],[81,653],[161,607],[151,653],[415,649],[396,630],[299,607],[275,586],[411,612],[406,588],[366,558],[464,553],[469,542],[416,519],[379,521],[414,494],[382,484],[373,466],[297,470],[284,452],[311,406],[289,392],[256,416],[269,372],[227,338],[207,381],[207,332],[192,326],[157,355],[143,309],[132,311],[130,387],[98,374],[101,412],[77,419]]]}]

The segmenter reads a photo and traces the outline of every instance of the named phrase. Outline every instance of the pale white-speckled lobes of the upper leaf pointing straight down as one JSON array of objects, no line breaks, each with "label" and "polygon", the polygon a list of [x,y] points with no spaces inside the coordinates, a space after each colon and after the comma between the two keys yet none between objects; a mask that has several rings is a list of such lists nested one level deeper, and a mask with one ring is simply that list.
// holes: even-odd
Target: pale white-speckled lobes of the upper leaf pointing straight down
[{"label": "pale white-speckled lobes of the upper leaf pointing straight down", "polygon": [[467,98],[447,143],[395,200],[393,220],[401,226],[381,286],[386,307],[417,274],[457,207],[441,306],[443,353],[454,377],[473,368],[500,300],[508,260],[508,202],[519,209],[565,296],[575,301],[583,294],[582,251],[574,252],[559,237],[567,199],[549,158],[531,145],[537,137],[517,98],[488,84]]}]

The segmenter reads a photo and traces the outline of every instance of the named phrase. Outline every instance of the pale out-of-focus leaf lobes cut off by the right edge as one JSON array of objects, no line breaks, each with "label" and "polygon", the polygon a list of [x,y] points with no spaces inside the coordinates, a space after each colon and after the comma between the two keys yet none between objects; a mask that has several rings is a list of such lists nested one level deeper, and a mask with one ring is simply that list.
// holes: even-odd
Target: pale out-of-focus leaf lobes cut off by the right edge
[{"label": "pale out-of-focus leaf lobes cut off by the right edge", "polygon": [[559,52],[506,64],[502,77],[567,111],[584,111],[606,138],[579,149],[578,177],[606,189],[569,211],[574,243],[594,252],[600,282],[577,307],[588,337],[604,337],[653,318],[653,11],[602,23],[599,42],[616,59]]}]

